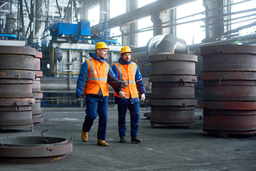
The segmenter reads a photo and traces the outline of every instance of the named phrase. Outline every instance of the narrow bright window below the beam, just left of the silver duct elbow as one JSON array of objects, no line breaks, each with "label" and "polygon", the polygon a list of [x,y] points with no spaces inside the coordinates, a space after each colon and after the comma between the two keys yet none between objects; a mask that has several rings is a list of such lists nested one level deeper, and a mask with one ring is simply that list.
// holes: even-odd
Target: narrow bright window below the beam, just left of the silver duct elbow
[{"label": "narrow bright window below the beam, just left of the silver duct elbow", "polygon": [[[144,17],[143,19],[138,20],[138,30],[143,31],[144,28],[149,29],[151,27],[153,27],[153,22],[151,22],[150,16],[147,16],[147,17]],[[152,37],[153,37],[153,30],[138,33],[138,47],[146,46],[147,42]]]}]

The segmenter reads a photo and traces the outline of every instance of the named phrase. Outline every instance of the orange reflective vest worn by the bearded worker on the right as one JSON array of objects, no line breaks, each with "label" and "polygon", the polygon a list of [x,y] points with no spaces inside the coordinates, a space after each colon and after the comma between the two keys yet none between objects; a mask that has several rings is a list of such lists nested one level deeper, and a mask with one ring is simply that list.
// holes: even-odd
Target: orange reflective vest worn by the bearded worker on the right
[{"label": "orange reflective vest worn by the bearded worker on the right", "polygon": [[[128,85],[125,88],[122,88],[122,91],[127,93],[127,98],[138,98],[138,90],[137,85],[135,82],[135,74],[137,70],[137,65],[134,62],[131,62],[129,65],[123,65],[118,63],[114,64],[117,67],[118,74],[119,74],[119,80],[124,81],[126,85]],[[114,96],[121,98],[116,92],[114,93]]]}]

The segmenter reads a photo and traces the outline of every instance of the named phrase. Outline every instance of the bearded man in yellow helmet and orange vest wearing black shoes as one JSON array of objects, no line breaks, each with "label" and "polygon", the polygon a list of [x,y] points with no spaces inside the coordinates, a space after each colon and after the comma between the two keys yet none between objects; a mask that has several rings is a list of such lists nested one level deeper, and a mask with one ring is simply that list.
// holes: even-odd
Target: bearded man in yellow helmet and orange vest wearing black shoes
[{"label": "bearded man in yellow helmet and orange vest wearing black shoes", "polygon": [[[115,103],[118,104],[118,133],[119,142],[125,142],[126,132],[126,111],[129,109],[131,117],[131,142],[142,142],[138,139],[139,120],[139,98],[144,101],[145,89],[142,75],[136,63],[131,61],[131,48],[125,46],[121,48],[121,57],[112,66],[113,73],[120,81],[125,81],[128,85],[125,88],[115,89]],[[118,92],[118,93],[117,93]],[[140,93],[140,97],[138,96]]]}]

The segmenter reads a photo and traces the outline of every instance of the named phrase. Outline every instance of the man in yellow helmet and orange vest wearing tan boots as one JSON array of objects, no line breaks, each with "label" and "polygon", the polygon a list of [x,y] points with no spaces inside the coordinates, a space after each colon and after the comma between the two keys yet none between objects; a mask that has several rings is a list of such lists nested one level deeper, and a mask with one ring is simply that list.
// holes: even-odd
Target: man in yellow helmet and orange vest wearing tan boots
[{"label": "man in yellow helmet and orange vest wearing tan boots", "polygon": [[97,133],[97,144],[107,146],[106,123],[108,109],[108,85],[113,88],[125,88],[124,82],[119,81],[112,68],[106,63],[106,43],[99,41],[95,45],[95,53],[89,53],[92,59],[86,60],[81,68],[76,86],[76,97],[82,98],[86,95],[86,117],[82,127],[81,139],[88,140],[88,132],[91,130],[94,119],[99,115],[99,127]]}]

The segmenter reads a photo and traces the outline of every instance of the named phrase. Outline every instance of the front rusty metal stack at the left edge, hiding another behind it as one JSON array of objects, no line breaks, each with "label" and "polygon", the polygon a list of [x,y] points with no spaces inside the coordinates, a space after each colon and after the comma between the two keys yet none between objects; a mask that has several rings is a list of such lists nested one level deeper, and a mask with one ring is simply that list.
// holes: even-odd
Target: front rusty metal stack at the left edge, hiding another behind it
[{"label": "front rusty metal stack at the left edge, hiding another behind it", "polygon": [[0,128],[33,126],[32,94],[35,48],[0,47]]}]

